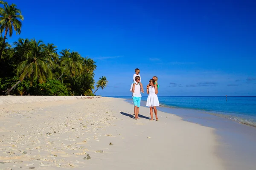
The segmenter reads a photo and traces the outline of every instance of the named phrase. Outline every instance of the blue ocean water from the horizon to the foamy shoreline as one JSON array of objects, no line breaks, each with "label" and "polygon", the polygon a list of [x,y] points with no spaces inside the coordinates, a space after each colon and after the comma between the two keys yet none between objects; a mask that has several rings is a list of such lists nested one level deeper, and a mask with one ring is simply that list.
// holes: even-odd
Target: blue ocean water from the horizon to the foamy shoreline
[{"label": "blue ocean water from the horizon to the foamy shoreline", "polygon": [[[131,99],[131,96],[111,96]],[[256,127],[256,96],[158,96],[160,105],[167,108],[201,110]],[[142,97],[146,101],[147,96]]]}]

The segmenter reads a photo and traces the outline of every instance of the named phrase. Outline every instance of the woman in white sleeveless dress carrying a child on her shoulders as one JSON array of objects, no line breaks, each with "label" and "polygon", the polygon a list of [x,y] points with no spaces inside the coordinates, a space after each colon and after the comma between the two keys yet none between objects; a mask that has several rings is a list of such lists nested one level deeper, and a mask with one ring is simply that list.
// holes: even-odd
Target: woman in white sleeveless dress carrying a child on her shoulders
[{"label": "woman in white sleeveless dress carrying a child on her shoulders", "polygon": [[158,120],[158,117],[157,117],[157,106],[159,106],[159,101],[157,97],[158,90],[157,90],[157,85],[154,85],[154,83],[155,83],[154,79],[150,79],[149,84],[147,85],[148,99],[147,99],[146,106],[149,107],[150,116],[151,116],[150,120],[153,120],[153,109],[156,115],[156,120]]}]

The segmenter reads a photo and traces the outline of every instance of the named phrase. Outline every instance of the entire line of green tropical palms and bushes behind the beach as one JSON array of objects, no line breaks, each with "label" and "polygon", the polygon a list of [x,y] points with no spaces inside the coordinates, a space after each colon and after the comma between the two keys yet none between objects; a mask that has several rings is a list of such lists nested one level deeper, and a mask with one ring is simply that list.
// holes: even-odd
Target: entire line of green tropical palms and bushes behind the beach
[{"label": "entire line of green tropical palms and bushes behind the beach", "polygon": [[15,4],[0,0],[0,91],[3,95],[86,95],[104,89],[102,76],[94,90],[96,62],[70,49],[41,40],[22,39],[10,45],[7,37],[20,34],[23,15]]}]

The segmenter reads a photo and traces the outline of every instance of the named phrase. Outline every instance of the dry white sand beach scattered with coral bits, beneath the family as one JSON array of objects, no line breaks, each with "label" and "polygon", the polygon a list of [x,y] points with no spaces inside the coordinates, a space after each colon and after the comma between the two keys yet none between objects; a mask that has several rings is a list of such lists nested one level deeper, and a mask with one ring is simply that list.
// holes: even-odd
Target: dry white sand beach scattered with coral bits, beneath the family
[{"label": "dry white sand beach scattered with coral bits, beneath the family", "polygon": [[133,110],[109,97],[0,96],[0,170],[224,169],[214,129]]}]

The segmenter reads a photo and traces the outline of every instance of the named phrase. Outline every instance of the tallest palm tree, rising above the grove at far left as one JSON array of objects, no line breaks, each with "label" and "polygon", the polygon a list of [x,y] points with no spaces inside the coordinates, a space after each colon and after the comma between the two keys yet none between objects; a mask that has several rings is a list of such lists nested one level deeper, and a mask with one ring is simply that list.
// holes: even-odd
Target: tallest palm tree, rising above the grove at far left
[{"label": "tallest palm tree, rising above the grove at far left", "polygon": [[20,34],[20,29],[22,26],[20,20],[23,19],[24,17],[21,15],[21,11],[16,8],[15,4],[9,6],[7,2],[4,3],[3,10],[0,10],[0,33],[2,34],[3,31],[5,31],[3,44],[0,51],[0,59],[2,59],[4,44],[8,31],[9,37],[12,37],[13,30],[15,30],[17,34]]}]

